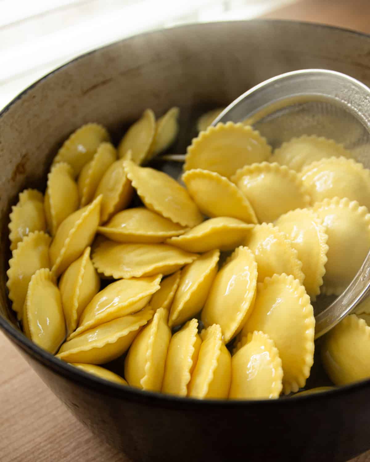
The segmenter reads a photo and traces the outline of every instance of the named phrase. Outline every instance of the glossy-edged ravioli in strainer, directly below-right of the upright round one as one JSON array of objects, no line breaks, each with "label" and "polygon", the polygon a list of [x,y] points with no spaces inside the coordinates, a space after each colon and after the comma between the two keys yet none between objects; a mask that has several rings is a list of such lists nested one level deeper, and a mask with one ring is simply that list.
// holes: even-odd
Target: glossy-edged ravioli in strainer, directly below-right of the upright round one
[{"label": "glossy-edged ravioli in strainer, directly below-right of the upright round one", "polygon": [[289,210],[308,206],[310,201],[298,174],[276,162],[246,165],[231,181],[247,197],[260,223],[275,221]]}]

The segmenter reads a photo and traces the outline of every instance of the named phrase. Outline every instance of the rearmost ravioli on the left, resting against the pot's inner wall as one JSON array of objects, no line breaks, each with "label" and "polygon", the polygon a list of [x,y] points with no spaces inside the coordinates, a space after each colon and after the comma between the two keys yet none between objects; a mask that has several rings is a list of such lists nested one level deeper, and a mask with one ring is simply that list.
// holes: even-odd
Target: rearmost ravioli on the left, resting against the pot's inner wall
[{"label": "rearmost ravioli on the left, resting against the pot's inner wall", "polygon": [[67,162],[77,176],[82,167],[90,162],[100,143],[109,141],[110,136],[104,127],[97,123],[83,125],[71,134],[59,149],[54,158],[54,164]]}]

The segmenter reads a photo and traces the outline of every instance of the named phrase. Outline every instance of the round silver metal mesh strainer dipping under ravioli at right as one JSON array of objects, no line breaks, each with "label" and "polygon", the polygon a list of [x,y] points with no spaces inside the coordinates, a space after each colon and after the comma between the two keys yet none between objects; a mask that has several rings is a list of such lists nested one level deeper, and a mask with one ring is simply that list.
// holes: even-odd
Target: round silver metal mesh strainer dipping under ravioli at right
[{"label": "round silver metal mesh strainer dipping under ravioli at right", "polygon": [[[348,75],[325,69],[278,75],[229,104],[212,125],[246,120],[273,148],[303,134],[325,136],[370,168],[370,89]],[[369,292],[370,252],[345,291],[315,313],[315,338],[350,314]]]}]

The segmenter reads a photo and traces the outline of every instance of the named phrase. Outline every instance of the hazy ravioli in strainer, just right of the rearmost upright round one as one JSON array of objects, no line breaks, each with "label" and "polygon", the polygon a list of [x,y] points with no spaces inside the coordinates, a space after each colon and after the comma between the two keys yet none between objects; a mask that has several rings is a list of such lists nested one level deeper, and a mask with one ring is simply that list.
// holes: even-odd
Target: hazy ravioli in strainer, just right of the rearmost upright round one
[{"label": "hazy ravioli in strainer, just right of the rearmost upright round one", "polygon": [[275,149],[269,159],[280,165],[287,165],[290,169],[301,171],[312,162],[329,157],[351,157],[351,152],[334,140],[315,135],[303,135],[300,138],[292,138]]}]

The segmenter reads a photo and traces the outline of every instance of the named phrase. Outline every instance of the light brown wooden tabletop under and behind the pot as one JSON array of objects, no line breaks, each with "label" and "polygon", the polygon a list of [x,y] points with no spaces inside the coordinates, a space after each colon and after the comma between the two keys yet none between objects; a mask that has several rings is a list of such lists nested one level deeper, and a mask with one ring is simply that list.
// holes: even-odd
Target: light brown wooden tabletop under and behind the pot
[{"label": "light brown wooden tabletop under and behind the pot", "polygon": [[[370,32],[370,1],[302,0],[266,17]],[[129,462],[80,424],[0,333],[0,461],[72,460]],[[370,462],[370,451],[354,461]]]}]

